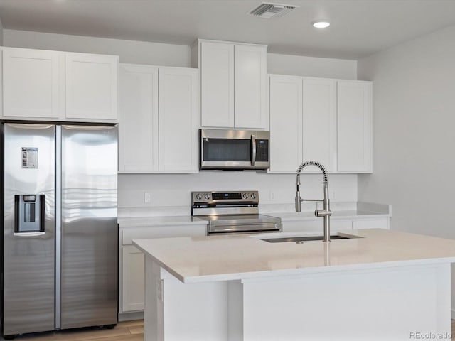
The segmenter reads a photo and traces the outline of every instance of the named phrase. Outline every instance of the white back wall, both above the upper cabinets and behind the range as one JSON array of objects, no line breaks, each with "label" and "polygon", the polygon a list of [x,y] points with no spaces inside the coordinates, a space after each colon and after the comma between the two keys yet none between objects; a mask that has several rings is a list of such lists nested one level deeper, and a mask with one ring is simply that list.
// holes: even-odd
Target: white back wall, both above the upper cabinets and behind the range
[{"label": "white back wall, both above the upper cabinets and behind the range", "polygon": [[[191,49],[186,45],[148,43],[53,33],[4,30],[4,45],[19,48],[64,50],[83,53],[119,55],[122,63],[142,63],[189,67]],[[269,72],[277,74],[341,77],[355,79],[354,60],[331,60],[269,54]],[[296,168],[299,165],[296,165]],[[302,192],[306,197],[322,197],[321,175],[302,175]],[[132,212],[147,210],[151,214],[190,212],[192,190],[259,190],[261,203],[293,209],[293,174],[259,174],[255,172],[201,172],[192,175],[119,175],[119,208]],[[357,175],[331,175],[329,188],[332,202],[357,201]],[[151,193],[151,203],[144,203],[144,192]],[[335,195],[333,197],[333,195]],[[273,197],[273,199],[271,198]],[[153,211],[153,212],[152,212]]]}]

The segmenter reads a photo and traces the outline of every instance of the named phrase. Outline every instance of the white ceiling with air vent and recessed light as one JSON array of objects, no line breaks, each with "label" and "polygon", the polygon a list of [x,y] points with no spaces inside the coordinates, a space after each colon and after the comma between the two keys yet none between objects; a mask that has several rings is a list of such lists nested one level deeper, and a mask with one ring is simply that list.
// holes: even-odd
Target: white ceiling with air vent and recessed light
[{"label": "white ceiling with air vent and recessed light", "polygon": [[[267,0],[266,0],[267,1]],[[455,0],[272,0],[282,18],[246,13],[261,0],[0,0],[4,28],[191,45],[196,38],[269,52],[358,59],[455,24]],[[325,30],[311,21],[326,19]]]}]

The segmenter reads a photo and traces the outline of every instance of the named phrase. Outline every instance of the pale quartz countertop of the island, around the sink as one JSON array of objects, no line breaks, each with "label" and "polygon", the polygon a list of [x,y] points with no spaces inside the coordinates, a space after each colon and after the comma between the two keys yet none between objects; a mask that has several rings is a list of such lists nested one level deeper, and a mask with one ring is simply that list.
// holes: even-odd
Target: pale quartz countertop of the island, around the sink
[{"label": "pale quartz countertop of the island, around the sink", "polygon": [[133,244],[183,283],[455,262],[452,239],[385,229],[346,234],[362,238],[303,244],[259,239],[287,236],[281,233],[134,239]]}]

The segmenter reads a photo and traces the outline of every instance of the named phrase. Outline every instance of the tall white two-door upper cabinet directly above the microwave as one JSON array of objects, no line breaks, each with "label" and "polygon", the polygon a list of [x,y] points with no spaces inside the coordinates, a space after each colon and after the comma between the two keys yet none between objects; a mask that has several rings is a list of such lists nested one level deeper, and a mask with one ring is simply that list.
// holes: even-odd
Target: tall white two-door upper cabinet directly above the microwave
[{"label": "tall white two-door upper cabinet directly above the microwave", "polygon": [[201,125],[267,129],[267,46],[198,40]]}]

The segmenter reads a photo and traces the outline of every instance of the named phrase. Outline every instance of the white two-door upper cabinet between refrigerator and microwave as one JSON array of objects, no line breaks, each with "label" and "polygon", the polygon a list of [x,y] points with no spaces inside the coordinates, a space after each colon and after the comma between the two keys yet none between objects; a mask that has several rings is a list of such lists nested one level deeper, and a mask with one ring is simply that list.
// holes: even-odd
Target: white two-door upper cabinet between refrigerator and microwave
[{"label": "white two-door upper cabinet between refrigerator and microwave", "polygon": [[198,70],[120,69],[119,173],[198,172]]}]

